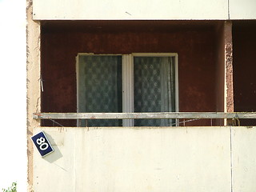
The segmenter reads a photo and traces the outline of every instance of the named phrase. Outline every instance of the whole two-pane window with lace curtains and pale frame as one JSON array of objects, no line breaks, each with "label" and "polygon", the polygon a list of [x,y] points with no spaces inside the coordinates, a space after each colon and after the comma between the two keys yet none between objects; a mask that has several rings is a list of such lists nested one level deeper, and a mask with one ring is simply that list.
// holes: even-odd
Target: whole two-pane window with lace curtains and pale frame
[{"label": "whole two-pane window with lace curtains and pale frame", "polygon": [[[78,112],[178,111],[177,54],[78,54]],[[172,119],[88,120],[82,126],[171,126]]]}]

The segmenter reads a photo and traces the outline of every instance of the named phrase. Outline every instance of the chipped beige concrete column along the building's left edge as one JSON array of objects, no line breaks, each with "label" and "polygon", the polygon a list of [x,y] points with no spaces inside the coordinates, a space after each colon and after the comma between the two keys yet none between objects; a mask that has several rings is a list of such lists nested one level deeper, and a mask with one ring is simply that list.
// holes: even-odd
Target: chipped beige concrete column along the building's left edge
[{"label": "chipped beige concrete column along the building's left edge", "polygon": [[32,19],[32,2],[26,6],[26,87],[27,87],[27,157],[28,157],[28,191],[33,190],[33,144],[30,137],[40,122],[33,119],[33,113],[41,110],[40,94],[40,22]]}]

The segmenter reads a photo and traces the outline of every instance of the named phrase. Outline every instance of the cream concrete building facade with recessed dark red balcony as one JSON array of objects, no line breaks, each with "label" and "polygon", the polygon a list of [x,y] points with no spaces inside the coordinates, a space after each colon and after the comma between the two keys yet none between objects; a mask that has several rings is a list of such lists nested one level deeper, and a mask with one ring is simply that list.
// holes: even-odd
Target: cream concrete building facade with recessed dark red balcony
[{"label": "cream concrete building facade with recessed dark red balcony", "polygon": [[255,8],[27,2],[28,190],[253,191]]}]

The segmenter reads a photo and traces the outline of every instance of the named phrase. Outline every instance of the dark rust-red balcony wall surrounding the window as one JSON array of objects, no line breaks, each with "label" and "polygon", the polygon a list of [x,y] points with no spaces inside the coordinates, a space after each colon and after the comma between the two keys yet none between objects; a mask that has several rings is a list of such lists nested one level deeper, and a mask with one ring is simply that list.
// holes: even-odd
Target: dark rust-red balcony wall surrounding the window
[{"label": "dark rust-red balcony wall surrounding the window", "polygon": [[[179,111],[216,110],[214,26],[91,23],[70,27],[42,25],[42,112],[76,112],[75,56],[81,52],[178,53]],[[74,121],[62,123],[75,126]],[[198,124],[207,126],[210,120],[186,123]]]}]

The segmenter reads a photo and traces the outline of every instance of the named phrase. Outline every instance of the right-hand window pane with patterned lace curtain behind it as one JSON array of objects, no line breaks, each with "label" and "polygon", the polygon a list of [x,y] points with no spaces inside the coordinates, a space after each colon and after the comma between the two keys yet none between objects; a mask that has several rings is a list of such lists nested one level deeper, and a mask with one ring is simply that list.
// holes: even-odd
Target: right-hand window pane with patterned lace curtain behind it
[{"label": "right-hand window pane with patterned lace curtain behind it", "polygon": [[[175,111],[171,57],[134,57],[134,112]],[[134,126],[171,126],[170,119],[139,119]]]}]

